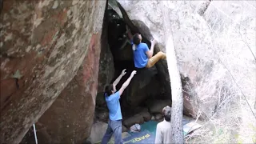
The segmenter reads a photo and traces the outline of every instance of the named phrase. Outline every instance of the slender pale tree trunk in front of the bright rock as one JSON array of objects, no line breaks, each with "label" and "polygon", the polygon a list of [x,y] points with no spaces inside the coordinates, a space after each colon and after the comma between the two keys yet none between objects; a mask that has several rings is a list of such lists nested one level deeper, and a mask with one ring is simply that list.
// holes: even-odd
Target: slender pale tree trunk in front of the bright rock
[{"label": "slender pale tree trunk in front of the bright rock", "polygon": [[[166,2],[168,4],[168,2]],[[183,98],[182,98],[182,82],[181,76],[177,66],[177,59],[174,48],[174,41],[172,37],[172,30],[170,24],[169,8],[162,6],[162,16],[164,22],[165,38],[166,38],[166,57],[168,71],[170,75],[170,86],[172,94],[172,111],[171,111],[171,142],[183,143]]]}]

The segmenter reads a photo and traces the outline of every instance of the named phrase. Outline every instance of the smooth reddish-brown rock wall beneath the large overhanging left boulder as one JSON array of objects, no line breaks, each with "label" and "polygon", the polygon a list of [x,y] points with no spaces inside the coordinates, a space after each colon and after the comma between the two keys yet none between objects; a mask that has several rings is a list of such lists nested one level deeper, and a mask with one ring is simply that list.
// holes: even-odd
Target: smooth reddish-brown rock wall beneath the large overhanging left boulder
[{"label": "smooth reddish-brown rock wall beneath the large overhanging left boulder", "polygon": [[[40,134],[38,142],[82,143],[89,137],[94,121],[95,99],[98,82],[100,37],[94,34],[90,40],[86,58],[73,80],[66,86],[55,102],[38,122],[46,133]],[[38,132],[40,133],[40,131]]]}]

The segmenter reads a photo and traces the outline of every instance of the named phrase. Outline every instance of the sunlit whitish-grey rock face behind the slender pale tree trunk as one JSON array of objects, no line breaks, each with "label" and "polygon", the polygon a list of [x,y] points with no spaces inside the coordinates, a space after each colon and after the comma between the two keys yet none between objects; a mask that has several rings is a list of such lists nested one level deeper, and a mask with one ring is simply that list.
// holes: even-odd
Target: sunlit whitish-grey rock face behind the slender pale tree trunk
[{"label": "sunlit whitish-grey rock face behind the slender pale tree trunk", "polygon": [[[203,1],[118,2],[120,10],[117,5],[112,7],[118,14],[122,13],[130,28],[136,31],[137,27],[147,39],[155,38],[157,47],[164,52],[166,38],[161,10],[170,10],[178,68],[185,78],[190,78],[187,102],[193,107],[197,104],[191,115],[201,110],[202,117],[206,118],[206,114],[220,106],[225,94],[241,95],[234,92],[238,91],[236,81],[250,104],[255,102],[254,2],[212,1],[204,8]],[[163,71],[161,74],[165,75]]]}]

